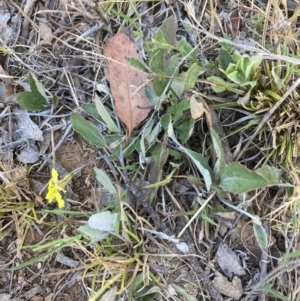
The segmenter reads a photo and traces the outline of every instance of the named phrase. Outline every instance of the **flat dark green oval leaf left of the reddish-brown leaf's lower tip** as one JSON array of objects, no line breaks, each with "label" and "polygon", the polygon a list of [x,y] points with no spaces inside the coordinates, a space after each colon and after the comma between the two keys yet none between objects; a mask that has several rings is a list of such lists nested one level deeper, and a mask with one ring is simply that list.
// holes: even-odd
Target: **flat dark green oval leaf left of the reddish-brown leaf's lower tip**
[{"label": "flat dark green oval leaf left of the reddish-brown leaf's lower tip", "polygon": [[98,147],[106,147],[105,139],[101,135],[100,130],[92,123],[75,113],[72,114],[71,122],[74,130],[85,139]]}]

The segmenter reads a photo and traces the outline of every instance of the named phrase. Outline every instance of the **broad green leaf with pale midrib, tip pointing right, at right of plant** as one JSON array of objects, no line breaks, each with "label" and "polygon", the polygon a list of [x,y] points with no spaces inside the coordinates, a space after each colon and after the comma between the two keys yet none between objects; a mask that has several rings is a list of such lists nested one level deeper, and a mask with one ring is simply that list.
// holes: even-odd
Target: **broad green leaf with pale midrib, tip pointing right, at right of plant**
[{"label": "broad green leaf with pale midrib, tip pointing right, at right of plant", "polygon": [[268,184],[262,176],[236,162],[222,167],[218,176],[218,186],[232,193],[244,193]]}]

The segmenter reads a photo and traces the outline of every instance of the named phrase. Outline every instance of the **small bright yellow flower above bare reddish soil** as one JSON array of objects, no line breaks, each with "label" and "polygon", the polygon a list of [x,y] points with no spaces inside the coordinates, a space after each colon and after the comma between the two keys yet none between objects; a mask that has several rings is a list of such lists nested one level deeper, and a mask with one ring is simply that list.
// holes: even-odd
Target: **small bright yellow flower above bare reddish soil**
[{"label": "small bright yellow flower above bare reddish soil", "polygon": [[58,180],[58,172],[52,168],[46,199],[49,201],[49,203],[52,203],[54,200],[56,200],[58,208],[63,208],[65,206],[65,201],[62,198],[61,191],[66,192],[64,187],[67,183],[65,183],[63,180]]}]

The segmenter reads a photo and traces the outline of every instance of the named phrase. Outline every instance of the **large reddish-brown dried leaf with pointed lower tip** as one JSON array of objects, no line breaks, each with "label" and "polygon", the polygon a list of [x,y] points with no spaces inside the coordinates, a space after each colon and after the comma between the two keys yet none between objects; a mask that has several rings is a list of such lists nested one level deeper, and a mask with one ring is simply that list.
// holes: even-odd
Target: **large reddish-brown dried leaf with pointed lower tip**
[{"label": "large reddish-brown dried leaf with pointed lower tip", "polygon": [[[110,38],[104,48],[108,58],[105,75],[115,101],[115,112],[127,126],[128,137],[144,121],[150,105],[144,92],[147,75],[130,66],[126,58],[139,60],[139,55],[129,37],[120,32]],[[149,83],[147,83],[149,85]]]}]

